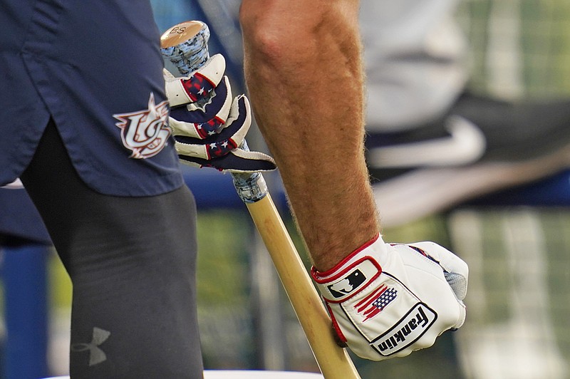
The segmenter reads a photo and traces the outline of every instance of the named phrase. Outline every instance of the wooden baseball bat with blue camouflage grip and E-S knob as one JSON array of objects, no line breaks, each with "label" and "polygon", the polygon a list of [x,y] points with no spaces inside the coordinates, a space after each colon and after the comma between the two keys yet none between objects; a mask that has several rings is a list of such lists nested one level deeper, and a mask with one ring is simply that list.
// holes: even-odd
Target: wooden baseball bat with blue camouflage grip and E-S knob
[{"label": "wooden baseball bat with blue camouflage grip and E-S knob", "polygon": [[[192,62],[204,59],[201,56],[204,50],[196,50],[199,43],[196,39],[205,38],[207,43],[209,31],[204,31],[204,28],[207,29],[207,26],[200,21],[187,21],[172,26],[162,34],[163,56],[170,58],[182,73],[195,70],[198,66]],[[182,58],[181,55],[186,57]],[[264,178],[259,172],[252,175],[232,175],[239,197],[246,204],[257,231],[271,255],[324,378],[359,379],[360,375],[348,353],[334,341],[331,318],[328,317],[321,298],[267,191]]]}]

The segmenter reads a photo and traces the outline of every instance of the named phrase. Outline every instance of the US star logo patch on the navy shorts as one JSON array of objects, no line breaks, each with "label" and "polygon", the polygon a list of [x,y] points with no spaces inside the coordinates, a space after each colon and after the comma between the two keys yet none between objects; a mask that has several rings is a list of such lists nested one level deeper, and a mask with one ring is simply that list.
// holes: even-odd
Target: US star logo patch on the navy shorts
[{"label": "US star logo patch on the navy shorts", "polygon": [[155,104],[155,95],[150,93],[148,109],[113,115],[119,120],[115,123],[121,129],[123,145],[133,154],[130,158],[145,159],[157,155],[162,150],[168,137],[168,100]]}]

